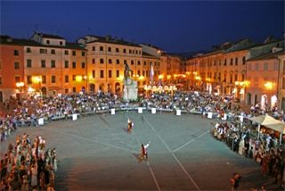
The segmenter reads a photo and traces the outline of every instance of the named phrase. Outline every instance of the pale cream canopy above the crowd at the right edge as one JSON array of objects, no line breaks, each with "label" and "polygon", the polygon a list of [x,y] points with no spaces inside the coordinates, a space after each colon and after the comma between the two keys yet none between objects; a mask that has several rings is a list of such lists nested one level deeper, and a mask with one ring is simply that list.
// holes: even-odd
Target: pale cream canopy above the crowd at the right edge
[{"label": "pale cream canopy above the crowd at the right edge", "polygon": [[275,120],[273,117],[269,115],[259,115],[257,117],[248,118],[260,125],[264,125],[266,128],[276,130],[285,134],[285,123],[281,120]]}]

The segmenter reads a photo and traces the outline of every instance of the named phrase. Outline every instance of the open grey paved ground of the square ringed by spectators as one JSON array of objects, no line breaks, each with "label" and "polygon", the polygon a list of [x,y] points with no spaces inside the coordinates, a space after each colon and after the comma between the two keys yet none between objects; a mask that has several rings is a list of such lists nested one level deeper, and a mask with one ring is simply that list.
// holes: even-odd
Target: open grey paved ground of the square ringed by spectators
[{"label": "open grey paved ground of the square ringed by spectators", "polygon": [[[134,121],[132,134],[127,118]],[[241,189],[275,187],[256,162],[211,137],[212,124],[199,115],[94,115],[18,129],[1,143],[1,154],[17,134],[42,135],[57,148],[57,190],[230,190],[233,172],[242,177]],[[140,145],[149,141],[149,160],[139,162]]]}]

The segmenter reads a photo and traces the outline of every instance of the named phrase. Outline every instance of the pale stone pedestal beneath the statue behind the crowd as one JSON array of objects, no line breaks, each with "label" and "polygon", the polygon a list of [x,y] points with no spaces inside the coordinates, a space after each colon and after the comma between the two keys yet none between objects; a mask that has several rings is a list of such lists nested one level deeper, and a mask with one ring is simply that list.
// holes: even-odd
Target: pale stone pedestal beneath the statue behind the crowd
[{"label": "pale stone pedestal beneath the statue behind the crowd", "polygon": [[125,79],[124,80],[124,95],[123,99],[124,100],[136,100],[137,99],[137,82],[134,81],[133,79]]}]

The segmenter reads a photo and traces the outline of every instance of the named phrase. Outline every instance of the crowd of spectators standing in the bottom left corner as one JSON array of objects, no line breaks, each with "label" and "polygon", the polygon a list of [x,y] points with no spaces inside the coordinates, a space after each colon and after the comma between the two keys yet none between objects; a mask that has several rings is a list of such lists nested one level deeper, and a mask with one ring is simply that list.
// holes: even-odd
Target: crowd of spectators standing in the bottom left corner
[{"label": "crowd of spectators standing in the bottom left corner", "polygon": [[45,149],[41,136],[31,139],[28,134],[16,138],[15,145],[0,162],[0,190],[54,190],[54,172],[57,170],[56,150]]}]

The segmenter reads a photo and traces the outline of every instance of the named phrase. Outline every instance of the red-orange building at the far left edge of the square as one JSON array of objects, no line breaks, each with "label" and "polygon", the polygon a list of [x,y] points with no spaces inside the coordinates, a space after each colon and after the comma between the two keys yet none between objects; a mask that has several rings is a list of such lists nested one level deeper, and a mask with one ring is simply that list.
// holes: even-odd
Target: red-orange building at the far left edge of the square
[{"label": "red-orange building at the far left edge of the square", "polygon": [[19,97],[25,86],[20,83],[24,80],[24,51],[20,40],[0,38],[0,102],[3,102],[11,95]]}]

